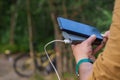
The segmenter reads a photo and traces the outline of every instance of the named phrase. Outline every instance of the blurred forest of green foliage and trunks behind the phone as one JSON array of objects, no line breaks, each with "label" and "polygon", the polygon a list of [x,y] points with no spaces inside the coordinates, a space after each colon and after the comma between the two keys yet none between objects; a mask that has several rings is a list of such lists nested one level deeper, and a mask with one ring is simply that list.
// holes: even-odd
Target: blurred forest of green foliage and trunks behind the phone
[{"label": "blurred forest of green foliage and trunks behind the phone", "polygon": [[[0,54],[44,52],[44,45],[62,39],[57,17],[109,30],[114,0],[0,0]],[[60,74],[74,73],[74,58],[69,45],[55,43]],[[69,66],[69,67],[67,67]]]}]

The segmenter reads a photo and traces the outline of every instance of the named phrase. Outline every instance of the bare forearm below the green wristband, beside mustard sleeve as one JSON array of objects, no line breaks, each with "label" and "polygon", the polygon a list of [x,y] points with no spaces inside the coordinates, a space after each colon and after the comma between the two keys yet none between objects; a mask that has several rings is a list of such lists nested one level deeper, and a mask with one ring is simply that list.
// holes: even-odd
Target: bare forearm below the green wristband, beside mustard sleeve
[{"label": "bare forearm below the green wristband, beside mustard sleeve", "polygon": [[79,80],[88,80],[92,73],[93,65],[89,62],[82,63],[79,67]]}]

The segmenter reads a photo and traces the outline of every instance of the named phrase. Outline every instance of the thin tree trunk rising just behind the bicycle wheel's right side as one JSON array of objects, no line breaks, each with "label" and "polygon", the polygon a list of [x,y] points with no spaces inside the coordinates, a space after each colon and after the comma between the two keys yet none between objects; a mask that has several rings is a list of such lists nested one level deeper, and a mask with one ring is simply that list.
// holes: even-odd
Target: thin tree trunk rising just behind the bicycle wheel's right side
[{"label": "thin tree trunk rising just behind the bicycle wheel's right side", "polygon": [[28,21],[28,31],[29,31],[29,49],[30,49],[30,56],[33,61],[33,69],[35,70],[35,55],[34,55],[34,48],[33,48],[33,32],[32,32],[32,19],[31,19],[31,12],[30,12],[30,0],[26,0],[26,9],[27,9],[27,21]]}]

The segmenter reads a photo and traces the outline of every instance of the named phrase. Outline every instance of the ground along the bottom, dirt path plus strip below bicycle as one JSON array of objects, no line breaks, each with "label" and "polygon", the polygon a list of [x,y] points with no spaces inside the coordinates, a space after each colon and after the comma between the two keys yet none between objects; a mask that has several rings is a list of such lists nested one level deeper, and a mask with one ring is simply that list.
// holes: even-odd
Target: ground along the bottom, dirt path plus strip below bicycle
[{"label": "ground along the bottom, dirt path plus strip below bicycle", "polygon": [[[42,76],[38,74],[35,77],[23,78],[18,76],[13,69],[13,62],[16,55],[6,58],[5,55],[0,55],[0,80],[58,80],[55,73],[47,76]],[[76,80],[74,76],[70,75],[63,80]]]}]

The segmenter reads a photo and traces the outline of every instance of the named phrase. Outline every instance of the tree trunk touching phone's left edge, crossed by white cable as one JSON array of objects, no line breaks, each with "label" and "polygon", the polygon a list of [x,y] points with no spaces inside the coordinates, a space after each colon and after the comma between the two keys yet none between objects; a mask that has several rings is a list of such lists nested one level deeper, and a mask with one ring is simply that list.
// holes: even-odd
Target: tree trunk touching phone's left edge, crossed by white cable
[{"label": "tree trunk touching phone's left edge, crossed by white cable", "polygon": [[[53,4],[53,0],[49,0],[49,6],[51,10],[51,19],[54,25],[54,34],[55,34],[55,39],[62,39],[60,31],[58,29],[58,24],[56,21],[56,6]],[[55,51],[56,51],[56,63],[57,63],[57,70],[59,75],[62,75],[62,57],[61,57],[61,43],[59,44],[58,42],[55,43]]]}]

